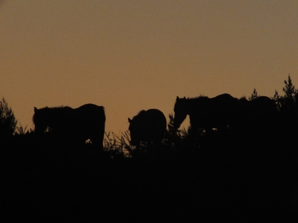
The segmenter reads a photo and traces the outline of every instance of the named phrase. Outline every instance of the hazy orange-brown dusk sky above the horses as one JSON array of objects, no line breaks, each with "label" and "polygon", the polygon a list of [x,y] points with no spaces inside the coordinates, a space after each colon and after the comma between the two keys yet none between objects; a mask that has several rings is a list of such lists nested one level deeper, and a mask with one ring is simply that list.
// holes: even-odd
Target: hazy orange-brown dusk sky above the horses
[{"label": "hazy orange-brown dusk sky above the horses", "polygon": [[28,128],[34,106],[93,103],[119,134],[176,96],[283,94],[288,74],[298,1],[0,0],[0,96]]}]

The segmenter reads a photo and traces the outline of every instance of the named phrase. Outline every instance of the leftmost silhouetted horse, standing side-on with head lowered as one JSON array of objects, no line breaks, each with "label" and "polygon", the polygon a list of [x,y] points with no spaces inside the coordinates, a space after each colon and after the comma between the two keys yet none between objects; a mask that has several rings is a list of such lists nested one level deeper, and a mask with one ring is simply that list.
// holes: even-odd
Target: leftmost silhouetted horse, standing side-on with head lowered
[{"label": "leftmost silhouetted horse, standing side-on with head lowered", "polygon": [[68,106],[37,109],[34,107],[35,132],[43,133],[50,127],[58,136],[74,143],[90,141],[103,148],[105,111],[103,106],[85,104],[72,109]]}]

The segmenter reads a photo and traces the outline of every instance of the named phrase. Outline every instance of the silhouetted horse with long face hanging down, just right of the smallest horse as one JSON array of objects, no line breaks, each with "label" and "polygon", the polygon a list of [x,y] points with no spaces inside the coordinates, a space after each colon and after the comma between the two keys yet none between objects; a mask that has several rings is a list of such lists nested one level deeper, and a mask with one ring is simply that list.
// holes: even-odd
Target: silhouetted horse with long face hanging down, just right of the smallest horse
[{"label": "silhouetted horse with long face hanging down, just right of the smallest horse", "polygon": [[197,98],[179,98],[174,106],[174,127],[179,128],[187,115],[190,118],[191,142],[195,142],[198,129],[206,132],[217,128],[225,129],[232,124],[237,98],[229,94],[218,95],[214,98],[199,96]]}]

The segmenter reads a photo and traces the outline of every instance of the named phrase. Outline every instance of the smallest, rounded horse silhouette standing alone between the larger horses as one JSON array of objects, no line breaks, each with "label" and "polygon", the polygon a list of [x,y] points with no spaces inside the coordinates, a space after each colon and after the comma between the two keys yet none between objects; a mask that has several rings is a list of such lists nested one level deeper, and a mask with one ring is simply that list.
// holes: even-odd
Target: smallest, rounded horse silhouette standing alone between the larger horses
[{"label": "smallest, rounded horse silhouette standing alone between the larger horses", "polygon": [[133,117],[128,118],[131,135],[131,145],[140,147],[140,142],[147,143],[149,147],[160,147],[164,132],[167,129],[167,120],[164,114],[158,109],[142,110]]}]

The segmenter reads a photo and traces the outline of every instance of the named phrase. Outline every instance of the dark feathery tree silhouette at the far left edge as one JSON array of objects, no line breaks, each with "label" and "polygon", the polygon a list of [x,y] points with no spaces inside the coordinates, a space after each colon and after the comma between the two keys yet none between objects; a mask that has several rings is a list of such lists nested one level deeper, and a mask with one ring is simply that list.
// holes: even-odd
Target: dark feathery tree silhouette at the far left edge
[{"label": "dark feathery tree silhouette at the far left edge", "polygon": [[2,97],[0,101],[0,139],[13,136],[17,122],[13,110],[8,107],[6,100]]}]

